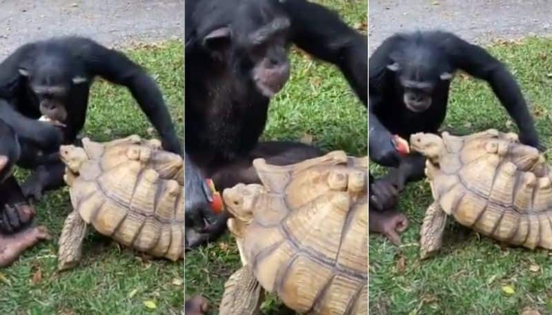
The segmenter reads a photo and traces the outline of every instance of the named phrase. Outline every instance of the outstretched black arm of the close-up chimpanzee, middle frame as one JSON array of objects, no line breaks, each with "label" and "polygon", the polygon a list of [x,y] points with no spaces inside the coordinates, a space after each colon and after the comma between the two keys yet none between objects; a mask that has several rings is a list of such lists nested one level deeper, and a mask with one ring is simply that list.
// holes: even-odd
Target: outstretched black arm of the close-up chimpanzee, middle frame
[{"label": "outstretched black arm of the close-up chimpanzee, middle frame", "polygon": [[291,41],[339,67],[364,105],[368,103],[368,38],[317,3],[279,1],[291,21]]}]

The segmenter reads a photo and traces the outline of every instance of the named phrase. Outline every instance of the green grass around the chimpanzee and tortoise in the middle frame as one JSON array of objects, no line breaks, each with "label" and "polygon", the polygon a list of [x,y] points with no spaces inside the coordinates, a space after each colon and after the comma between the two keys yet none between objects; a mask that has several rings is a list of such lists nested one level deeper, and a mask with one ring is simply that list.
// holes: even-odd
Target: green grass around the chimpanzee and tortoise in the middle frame
[{"label": "green grass around the chimpanzee and tortoise in the middle frame", "polygon": [[[352,26],[366,23],[366,0],[317,2],[337,10]],[[345,150],[365,156],[368,150],[366,108],[339,70],[296,52],[290,59],[291,77],[270,103],[264,139],[299,141],[309,134],[323,150]],[[228,234],[216,243],[187,253],[186,296],[204,294],[213,306],[210,314],[218,314],[224,283],[240,265],[237,247]],[[270,296],[262,305],[262,312],[284,314],[286,311]]]}]

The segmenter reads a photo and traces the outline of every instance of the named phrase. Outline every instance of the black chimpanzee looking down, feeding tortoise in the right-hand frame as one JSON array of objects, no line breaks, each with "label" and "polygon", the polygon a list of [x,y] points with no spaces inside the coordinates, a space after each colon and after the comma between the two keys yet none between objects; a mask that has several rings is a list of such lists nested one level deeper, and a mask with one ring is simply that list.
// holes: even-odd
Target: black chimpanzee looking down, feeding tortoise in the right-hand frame
[{"label": "black chimpanzee looking down, feeding tortoise in the right-hand frame", "polygon": [[[372,161],[393,167],[375,181],[377,191],[373,189],[375,183],[371,185],[370,194],[375,197],[371,200],[380,204],[374,209],[393,208],[395,196],[405,183],[424,176],[425,159],[420,154],[401,156],[392,136],[408,139],[415,132],[437,132],[457,70],[487,81],[520,129],[522,143],[540,148],[519,85],[506,66],[484,48],[450,32],[399,33],[386,39],[369,63],[368,150]],[[395,230],[391,227],[393,218],[396,214],[371,212],[371,229]]]}]

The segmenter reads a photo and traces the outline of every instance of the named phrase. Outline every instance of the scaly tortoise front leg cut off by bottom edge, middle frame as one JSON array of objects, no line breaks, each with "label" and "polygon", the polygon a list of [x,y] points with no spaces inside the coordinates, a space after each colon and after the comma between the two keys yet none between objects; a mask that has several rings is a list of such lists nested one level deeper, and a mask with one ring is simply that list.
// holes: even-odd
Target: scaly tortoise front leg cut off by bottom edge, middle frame
[{"label": "scaly tortoise front leg cut off by bottom edge, middle frame", "polygon": [[258,315],[264,290],[248,266],[234,272],[224,284],[219,315]]}]

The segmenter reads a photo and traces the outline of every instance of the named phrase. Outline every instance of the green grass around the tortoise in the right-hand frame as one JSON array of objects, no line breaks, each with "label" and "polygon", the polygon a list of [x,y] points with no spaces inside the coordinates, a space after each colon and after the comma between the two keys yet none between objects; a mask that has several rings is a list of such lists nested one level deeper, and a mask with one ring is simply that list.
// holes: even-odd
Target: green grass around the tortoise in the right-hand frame
[{"label": "green grass around the tortoise in the right-hand frame", "polygon": [[[489,49],[520,82],[542,142],[551,148],[552,39],[495,43]],[[517,132],[486,83],[460,76],[452,87],[444,128],[456,134],[488,128]],[[408,185],[399,205],[411,221],[403,245],[370,237],[371,314],[520,314],[525,307],[552,314],[548,252],[502,248],[449,219],[442,252],[420,261],[420,226],[432,200],[426,181]],[[397,265],[402,257],[404,268]],[[538,272],[531,265],[538,265]],[[504,294],[504,286],[515,293]]]}]

